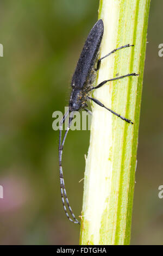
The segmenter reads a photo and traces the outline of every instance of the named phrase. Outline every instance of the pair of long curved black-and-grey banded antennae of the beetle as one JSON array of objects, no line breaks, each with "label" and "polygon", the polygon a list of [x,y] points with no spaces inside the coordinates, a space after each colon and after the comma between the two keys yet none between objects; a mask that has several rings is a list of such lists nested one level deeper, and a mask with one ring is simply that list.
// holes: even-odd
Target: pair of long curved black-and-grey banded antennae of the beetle
[{"label": "pair of long curved black-and-grey banded antennae of the beetle", "polygon": [[[65,119],[67,118],[69,110],[65,113],[64,117],[62,118],[62,120],[60,121],[60,125],[59,125],[59,174],[60,174],[60,190],[61,190],[61,199],[62,199],[62,204],[64,206],[64,211],[65,214],[68,218],[68,220],[70,220],[71,222],[75,223],[75,224],[80,224],[80,222],[77,220],[77,218],[75,217],[75,215],[73,214],[73,211],[71,209],[70,203],[68,202],[68,198],[67,198],[67,193],[66,193],[66,189],[65,189],[65,182],[64,182],[64,175],[62,172],[62,150],[64,147],[64,143],[65,143],[65,139],[67,136],[68,131],[70,130],[70,125],[71,125],[71,121],[73,119],[73,117],[70,116],[69,118],[69,122],[68,122],[68,127],[66,129],[65,135],[64,135],[64,139],[61,143],[61,132],[62,132],[62,124],[65,123]],[[65,197],[65,199],[64,199]],[[68,215],[67,209],[66,209],[66,205],[65,205],[65,200],[66,200],[66,204],[68,206],[68,209],[73,217],[74,220],[72,220],[72,218],[70,218],[70,216]]]}]

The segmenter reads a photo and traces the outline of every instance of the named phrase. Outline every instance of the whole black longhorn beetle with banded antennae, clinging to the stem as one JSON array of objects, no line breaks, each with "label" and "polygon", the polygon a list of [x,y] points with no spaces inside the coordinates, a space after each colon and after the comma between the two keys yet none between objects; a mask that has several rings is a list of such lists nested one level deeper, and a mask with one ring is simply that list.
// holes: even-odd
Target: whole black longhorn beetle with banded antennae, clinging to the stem
[{"label": "whole black longhorn beetle with banded antennae, clinging to the stem", "polygon": [[[71,206],[68,202],[66,190],[65,190],[65,183],[64,183],[64,176],[62,172],[62,149],[64,147],[65,139],[68,133],[68,130],[70,130],[70,125],[71,121],[73,119],[73,111],[79,111],[79,109],[84,108],[87,112],[89,112],[87,107],[87,101],[92,100],[95,102],[97,105],[104,107],[108,109],[112,114],[117,115],[117,117],[120,117],[122,120],[126,121],[127,123],[133,124],[129,119],[122,117],[120,114],[117,114],[116,112],[112,111],[111,109],[105,107],[103,103],[101,103],[99,100],[94,99],[89,96],[90,92],[92,90],[98,89],[102,87],[105,83],[109,81],[114,81],[118,80],[127,76],[138,76],[138,74],[131,73],[128,75],[123,75],[120,77],[115,77],[109,80],[105,80],[98,84],[98,86],[93,87],[92,83],[95,80],[96,77],[96,72],[100,68],[101,65],[101,60],[108,57],[110,54],[116,52],[117,50],[120,50],[122,48],[134,46],[134,45],[124,45],[121,47],[116,48],[115,50],[111,51],[110,53],[106,54],[104,57],[100,58],[97,60],[98,56],[98,51],[99,47],[101,45],[101,41],[103,38],[103,32],[104,32],[104,25],[102,20],[98,20],[96,24],[93,26],[91,29],[89,35],[87,36],[87,39],[85,41],[82,53],[80,54],[80,58],[78,60],[78,64],[76,66],[76,70],[74,71],[73,77],[72,77],[72,91],[71,91],[71,96],[70,96],[70,101],[69,101],[69,110],[65,113],[64,117],[60,121],[60,126],[59,126],[59,172],[60,172],[60,190],[61,190],[61,199],[62,199],[62,204],[64,206],[64,210],[66,213],[67,218],[73,222],[80,224],[80,222],[77,220],[77,218],[74,216],[73,211],[71,209]],[[95,64],[97,63],[96,67]],[[62,130],[62,125],[65,122],[65,119],[68,116],[68,112],[70,111],[70,117],[68,121],[68,127],[66,129],[64,139],[61,141],[61,130]],[[65,204],[66,201],[66,204]],[[66,205],[70,211],[70,214],[72,218],[70,218]]]}]

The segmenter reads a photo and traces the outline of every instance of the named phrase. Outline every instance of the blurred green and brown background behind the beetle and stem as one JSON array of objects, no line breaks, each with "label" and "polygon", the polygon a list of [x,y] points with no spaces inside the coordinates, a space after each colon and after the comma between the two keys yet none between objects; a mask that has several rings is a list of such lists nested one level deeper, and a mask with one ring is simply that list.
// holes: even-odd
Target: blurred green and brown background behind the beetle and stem
[{"label": "blurred green and brown background behind the beetle and stem", "polygon": [[[52,113],[68,104],[71,77],[96,0],[5,0],[0,3],[1,245],[74,245],[79,226],[62,209],[58,131]],[[162,1],[151,3],[143,83],[131,244],[163,244]],[[128,42],[127,42],[128,43]],[[89,131],[70,131],[65,182],[76,215],[82,209],[84,154]]]}]

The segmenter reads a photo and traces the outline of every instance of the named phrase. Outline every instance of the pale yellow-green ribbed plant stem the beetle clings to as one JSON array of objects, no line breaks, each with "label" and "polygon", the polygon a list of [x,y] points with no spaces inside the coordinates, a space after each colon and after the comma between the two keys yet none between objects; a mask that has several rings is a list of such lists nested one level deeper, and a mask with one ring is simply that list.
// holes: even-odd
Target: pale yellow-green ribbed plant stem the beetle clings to
[{"label": "pale yellow-green ribbed plant stem the beetle clings to", "polygon": [[101,0],[99,4],[99,19],[104,22],[100,57],[126,44],[135,46],[103,59],[96,84],[132,72],[140,76],[106,83],[93,92],[93,97],[134,124],[92,104],[80,245],[130,243],[149,4],[150,0]]}]

